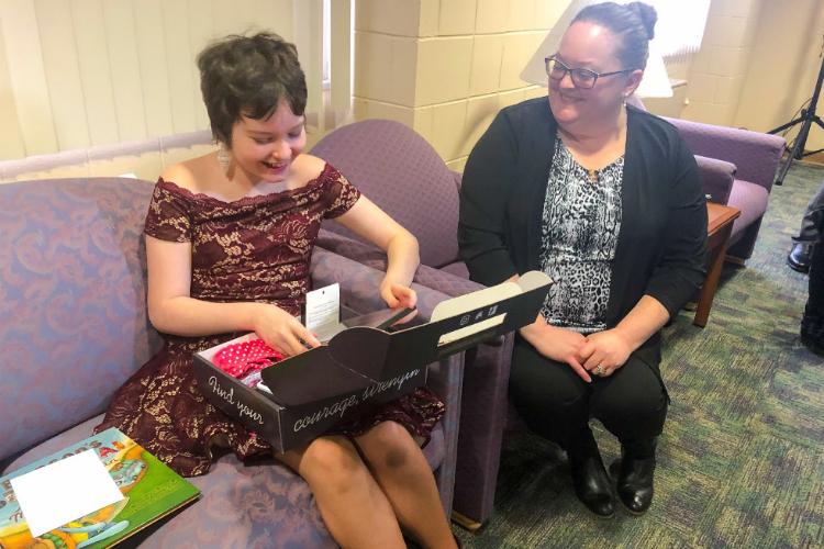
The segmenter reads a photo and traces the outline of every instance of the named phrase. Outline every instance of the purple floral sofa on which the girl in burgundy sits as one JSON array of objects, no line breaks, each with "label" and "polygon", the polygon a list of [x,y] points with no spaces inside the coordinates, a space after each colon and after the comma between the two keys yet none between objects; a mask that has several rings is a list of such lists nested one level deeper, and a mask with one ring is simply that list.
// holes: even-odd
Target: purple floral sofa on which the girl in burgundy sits
[{"label": "purple floral sofa on which the girl in burgundy sits", "polygon": [[[153,183],[125,178],[0,184],[0,475],[91,435],[112,393],[160,345],[145,305],[143,219]],[[316,248],[315,287],[357,312],[383,305],[382,273]],[[447,299],[415,284],[420,314]],[[424,453],[453,502],[464,354],[431,365],[447,413]],[[200,501],[137,537],[146,548],[337,547],[309,486],[233,455],[191,479]]]}]

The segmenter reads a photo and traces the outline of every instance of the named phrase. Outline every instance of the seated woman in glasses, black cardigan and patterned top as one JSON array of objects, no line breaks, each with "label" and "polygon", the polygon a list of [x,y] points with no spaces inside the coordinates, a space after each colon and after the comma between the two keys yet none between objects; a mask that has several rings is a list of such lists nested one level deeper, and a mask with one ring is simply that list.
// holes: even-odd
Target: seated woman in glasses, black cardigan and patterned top
[{"label": "seated woman in glasses, black cardigan and patterned top", "polygon": [[660,329],[704,279],[695,160],[672,125],[626,105],[656,19],[641,2],[581,10],[546,58],[548,101],[498,114],[460,195],[458,240],[474,280],[541,270],[555,281],[517,334],[510,397],[566,450],[577,496],[602,517],[616,501],[589,419],[621,441],[619,500],[643,514],[669,403]]}]

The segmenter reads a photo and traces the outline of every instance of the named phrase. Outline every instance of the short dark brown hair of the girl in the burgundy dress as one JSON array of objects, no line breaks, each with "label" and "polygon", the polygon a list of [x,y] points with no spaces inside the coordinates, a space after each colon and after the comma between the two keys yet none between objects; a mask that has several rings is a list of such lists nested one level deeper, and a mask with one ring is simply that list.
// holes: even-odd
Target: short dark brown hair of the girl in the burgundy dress
[{"label": "short dark brown hair of the girl in the burgundy dress", "polygon": [[198,68],[212,135],[227,147],[242,116],[265,120],[281,101],[299,116],[307,109],[298,48],[275,33],[225,36],[198,55]]}]

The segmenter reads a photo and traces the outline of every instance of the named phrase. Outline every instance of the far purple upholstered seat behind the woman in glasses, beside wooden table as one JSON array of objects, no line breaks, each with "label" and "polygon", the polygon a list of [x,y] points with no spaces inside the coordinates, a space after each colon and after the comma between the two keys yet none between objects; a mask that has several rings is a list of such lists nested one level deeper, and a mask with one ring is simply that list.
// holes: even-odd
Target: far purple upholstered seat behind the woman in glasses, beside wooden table
[{"label": "far purple upholstered seat behind the woman in glasses, beside wooden table", "polygon": [[[631,102],[639,109],[644,108],[635,98]],[[708,193],[712,194],[715,184],[708,175],[714,171],[722,173],[721,179],[724,177],[724,165],[719,161],[726,163],[727,171],[731,167],[734,169],[727,200],[724,200],[723,192],[709,200],[741,210],[741,216],[733,224],[726,258],[743,264],[753,255],[758,238],[776,171],[784,152],[783,137],[686,120],[665,120],[680,130],[695,155]]]}]

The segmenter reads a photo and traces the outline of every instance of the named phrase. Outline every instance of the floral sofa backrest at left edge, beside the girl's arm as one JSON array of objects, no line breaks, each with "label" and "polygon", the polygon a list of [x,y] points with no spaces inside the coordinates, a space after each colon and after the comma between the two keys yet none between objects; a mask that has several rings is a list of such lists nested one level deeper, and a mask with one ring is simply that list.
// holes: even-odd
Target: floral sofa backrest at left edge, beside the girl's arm
[{"label": "floral sofa backrest at left edge, beside the girl's arm", "polygon": [[159,349],[145,294],[153,188],[126,178],[0,186],[0,459],[101,413]]}]

